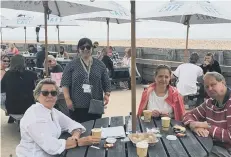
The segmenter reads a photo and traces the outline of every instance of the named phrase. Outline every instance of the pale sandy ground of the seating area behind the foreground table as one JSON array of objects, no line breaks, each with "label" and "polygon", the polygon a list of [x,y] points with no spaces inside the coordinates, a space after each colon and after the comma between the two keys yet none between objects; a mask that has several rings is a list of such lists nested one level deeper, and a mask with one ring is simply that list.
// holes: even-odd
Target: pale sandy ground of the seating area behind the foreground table
[{"label": "pale sandy ground of the seating area behind the foreground table", "polygon": [[[140,102],[143,88],[138,85],[136,90],[136,104]],[[111,93],[108,108],[105,111],[104,117],[111,116],[127,116],[131,111],[131,91],[130,90],[117,90]],[[5,112],[1,110],[1,156],[2,157],[15,157],[15,148],[20,141],[20,133],[16,124],[8,124],[8,117]]]}]

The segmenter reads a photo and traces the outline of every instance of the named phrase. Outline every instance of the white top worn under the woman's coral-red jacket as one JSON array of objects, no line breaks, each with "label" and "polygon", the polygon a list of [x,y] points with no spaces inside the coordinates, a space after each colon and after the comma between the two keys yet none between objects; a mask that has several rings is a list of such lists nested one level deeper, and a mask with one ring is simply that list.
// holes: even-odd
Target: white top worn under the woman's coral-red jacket
[{"label": "white top worn under the woman's coral-red jacket", "polygon": [[165,101],[165,99],[168,97],[168,92],[163,97],[159,97],[156,95],[155,91],[152,91],[152,93],[149,96],[148,100],[148,110],[157,110],[159,112],[167,112],[170,115],[173,113],[172,107]]}]

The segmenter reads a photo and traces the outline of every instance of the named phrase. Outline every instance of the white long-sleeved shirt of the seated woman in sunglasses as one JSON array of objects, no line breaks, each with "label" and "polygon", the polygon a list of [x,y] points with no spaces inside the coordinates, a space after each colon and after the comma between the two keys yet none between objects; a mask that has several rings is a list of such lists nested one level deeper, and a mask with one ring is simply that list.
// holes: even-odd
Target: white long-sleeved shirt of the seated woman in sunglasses
[{"label": "white long-sleeved shirt of the seated woman in sunglasses", "polygon": [[20,121],[21,141],[17,157],[51,157],[65,150],[66,140],[58,139],[62,132],[86,129],[62,112],[47,109],[40,103],[32,105]]}]

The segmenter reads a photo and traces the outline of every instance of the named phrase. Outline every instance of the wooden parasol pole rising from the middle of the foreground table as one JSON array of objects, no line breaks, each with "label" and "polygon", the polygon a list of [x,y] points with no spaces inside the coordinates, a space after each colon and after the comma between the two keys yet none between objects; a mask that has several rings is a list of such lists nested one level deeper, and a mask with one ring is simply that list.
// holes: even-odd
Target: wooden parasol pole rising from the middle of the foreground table
[{"label": "wooden parasol pole rising from the middle of the foreground table", "polygon": [[136,2],[131,0],[131,94],[132,132],[136,133]]}]

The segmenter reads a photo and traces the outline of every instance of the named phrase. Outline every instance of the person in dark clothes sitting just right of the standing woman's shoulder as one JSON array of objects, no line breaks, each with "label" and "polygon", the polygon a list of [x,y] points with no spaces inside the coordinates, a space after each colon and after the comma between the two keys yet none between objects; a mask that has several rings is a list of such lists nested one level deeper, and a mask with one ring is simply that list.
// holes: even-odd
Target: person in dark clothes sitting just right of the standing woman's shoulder
[{"label": "person in dark clothes sitting just right of the standing woman's shoulder", "polygon": [[101,61],[105,64],[108,72],[110,72],[110,77],[112,76],[113,72],[114,72],[114,68],[113,68],[113,62],[111,60],[111,58],[107,55],[107,49],[104,48],[101,51]]}]

